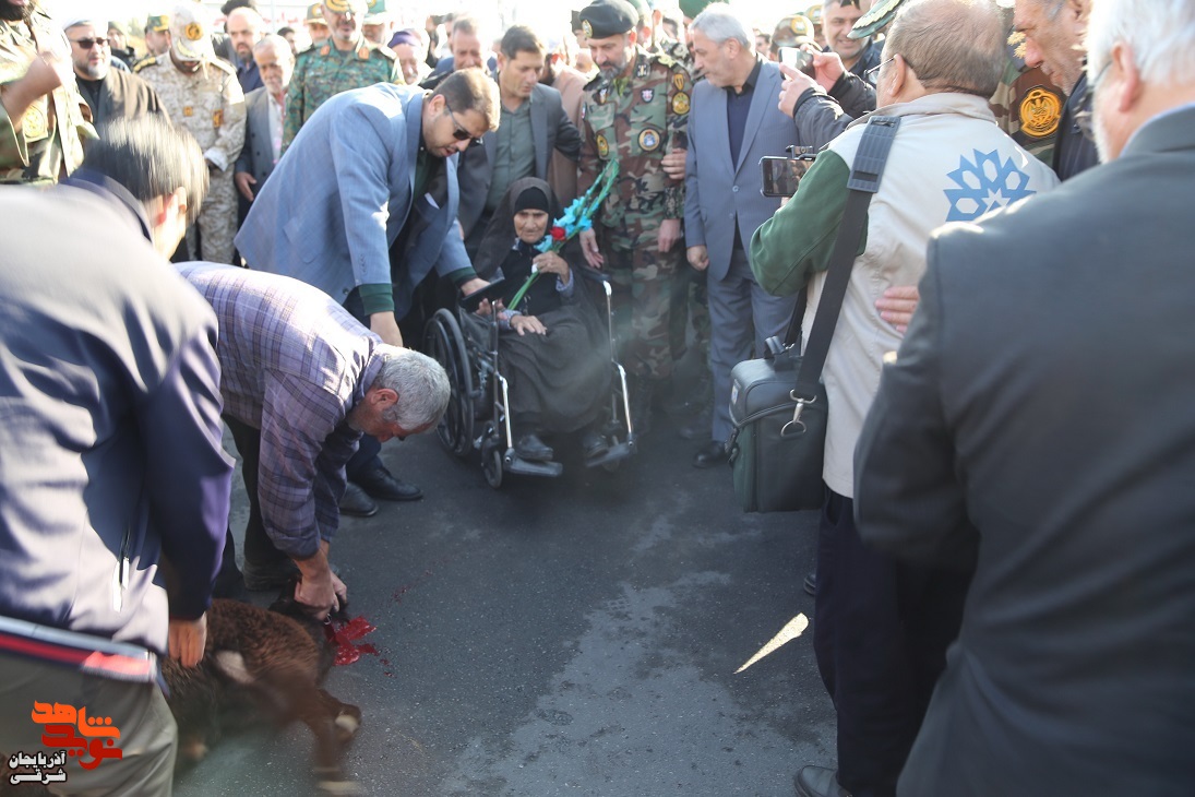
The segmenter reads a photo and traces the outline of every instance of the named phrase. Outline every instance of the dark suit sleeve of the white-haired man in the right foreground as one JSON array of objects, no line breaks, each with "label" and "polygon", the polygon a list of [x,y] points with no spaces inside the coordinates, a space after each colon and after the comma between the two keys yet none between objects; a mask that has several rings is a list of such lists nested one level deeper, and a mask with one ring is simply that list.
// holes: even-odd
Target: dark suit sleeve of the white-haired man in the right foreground
[{"label": "dark suit sleeve of the white-haired man in the right foreground", "polygon": [[943,307],[938,240],[921,301],[895,363],[884,366],[854,449],[859,535],[905,559],[967,569],[976,534],[967,519],[955,447],[942,403]]}]

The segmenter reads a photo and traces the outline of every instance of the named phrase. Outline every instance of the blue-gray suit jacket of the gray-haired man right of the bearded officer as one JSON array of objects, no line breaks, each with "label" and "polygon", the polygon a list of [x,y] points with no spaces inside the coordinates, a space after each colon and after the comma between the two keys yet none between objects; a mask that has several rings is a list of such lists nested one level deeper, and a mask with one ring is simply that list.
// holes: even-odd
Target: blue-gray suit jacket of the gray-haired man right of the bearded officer
[{"label": "blue-gray suit jacket of the gray-haired man right of the bearded officer", "polygon": [[760,192],[764,179],[759,167],[764,155],[783,157],[785,147],[797,143],[792,119],[776,105],[780,82],[780,68],[764,61],[735,163],[730,161],[727,91],[706,80],[693,86],[685,164],[685,243],[709,249],[713,280],[727,276],[734,251],[735,217],[742,247],[749,252],[755,228],[780,209],[779,198]]}]

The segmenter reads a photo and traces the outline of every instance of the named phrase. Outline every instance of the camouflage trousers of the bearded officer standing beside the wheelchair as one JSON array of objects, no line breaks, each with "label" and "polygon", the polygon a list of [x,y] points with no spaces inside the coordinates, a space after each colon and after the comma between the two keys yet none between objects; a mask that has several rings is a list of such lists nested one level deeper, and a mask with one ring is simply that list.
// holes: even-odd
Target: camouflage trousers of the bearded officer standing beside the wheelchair
[{"label": "camouflage trousers of the bearded officer standing beside the wheelchair", "polygon": [[600,239],[614,296],[619,362],[627,373],[654,380],[672,376],[672,305],[685,250],[660,252],[655,244],[629,249],[609,235]]}]

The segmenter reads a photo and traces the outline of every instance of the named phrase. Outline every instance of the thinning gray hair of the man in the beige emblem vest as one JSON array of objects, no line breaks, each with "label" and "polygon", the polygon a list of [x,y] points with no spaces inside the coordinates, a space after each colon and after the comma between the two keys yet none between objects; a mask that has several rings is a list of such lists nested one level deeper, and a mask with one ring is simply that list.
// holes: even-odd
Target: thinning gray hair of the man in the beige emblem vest
[{"label": "thinning gray hair of the man in the beige emblem vest", "polygon": [[931,92],[987,99],[1004,74],[1006,38],[992,0],[912,0],[896,14],[884,57],[903,56]]}]

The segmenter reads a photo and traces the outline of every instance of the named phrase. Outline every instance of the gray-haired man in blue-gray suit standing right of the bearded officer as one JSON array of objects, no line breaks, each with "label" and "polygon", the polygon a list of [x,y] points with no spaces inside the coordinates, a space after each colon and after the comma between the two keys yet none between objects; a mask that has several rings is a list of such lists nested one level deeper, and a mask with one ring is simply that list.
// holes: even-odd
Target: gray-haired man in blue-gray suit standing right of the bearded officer
[{"label": "gray-haired man in blue-gray suit standing right of the bearded officer", "polygon": [[730,436],[730,370],[764,341],[784,331],[792,299],[772,296],[755,282],[750,237],[780,208],[761,192],[759,159],[784,155],[797,143],[792,118],[777,108],[784,80],[779,67],[755,53],[755,35],[727,5],[697,16],[690,32],[705,80],[693,87],[685,168],[685,238],[688,263],[709,271],[710,372],[713,418],[710,442],[697,467],[727,461]]}]

